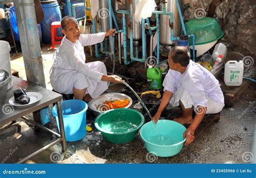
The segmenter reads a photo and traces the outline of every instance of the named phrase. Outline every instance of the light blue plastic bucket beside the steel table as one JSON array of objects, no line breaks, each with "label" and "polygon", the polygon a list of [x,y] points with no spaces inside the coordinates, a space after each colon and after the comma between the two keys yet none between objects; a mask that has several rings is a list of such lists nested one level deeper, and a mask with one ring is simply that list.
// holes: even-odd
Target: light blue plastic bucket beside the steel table
[{"label": "light blue plastic bucket beside the steel table", "polygon": [[[86,135],[87,108],[88,105],[82,100],[72,99],[62,102],[62,114],[66,141],[78,141],[83,139]],[[56,117],[59,129],[59,120],[56,105],[52,108],[52,114]]]}]

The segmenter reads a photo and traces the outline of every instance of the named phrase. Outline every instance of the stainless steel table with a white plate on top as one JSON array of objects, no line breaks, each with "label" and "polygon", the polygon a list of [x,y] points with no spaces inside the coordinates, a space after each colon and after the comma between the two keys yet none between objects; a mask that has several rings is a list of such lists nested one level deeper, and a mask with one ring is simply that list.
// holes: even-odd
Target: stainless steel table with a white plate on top
[{"label": "stainless steel table with a white plate on top", "polygon": [[[46,132],[50,132],[51,134],[55,134],[59,137],[56,141],[51,142],[49,145],[44,146],[43,148],[37,150],[36,152],[26,156],[24,159],[18,161],[18,163],[25,162],[29,160],[33,156],[43,152],[45,149],[56,145],[57,143],[62,144],[62,151],[66,151],[66,139],[65,139],[65,132],[64,132],[64,124],[63,124],[63,115],[62,115],[62,106],[60,101],[62,100],[62,95],[56,92],[52,92],[43,88],[41,86],[35,84],[29,84],[25,80],[12,76],[12,81],[14,83],[14,87],[12,87],[8,93],[7,98],[0,109],[0,125],[4,125],[10,121],[14,121],[16,119],[22,118],[25,121],[31,122],[32,124],[38,126],[39,128],[43,129]],[[14,96],[14,90],[18,88],[26,88],[26,92],[39,92],[43,95],[42,99],[39,100],[36,104],[32,106],[27,106],[25,108],[20,107],[13,107],[9,104],[9,99]],[[2,92],[2,91],[1,91]],[[58,120],[59,120],[59,128],[60,128],[60,135],[56,132],[51,131],[50,129],[38,124],[38,113],[39,109],[42,109],[46,106],[49,106],[53,103],[57,103],[57,111],[58,111]],[[24,115],[33,113],[34,121],[29,120],[28,118],[24,117]]]}]

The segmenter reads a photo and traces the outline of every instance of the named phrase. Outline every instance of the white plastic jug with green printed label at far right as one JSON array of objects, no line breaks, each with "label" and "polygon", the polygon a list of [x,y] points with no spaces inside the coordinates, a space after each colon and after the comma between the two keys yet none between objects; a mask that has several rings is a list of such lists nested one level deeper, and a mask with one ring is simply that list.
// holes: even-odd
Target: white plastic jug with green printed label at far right
[{"label": "white plastic jug with green printed label at far right", "polygon": [[242,60],[227,61],[225,64],[224,82],[227,86],[240,86],[244,74],[244,63]]}]

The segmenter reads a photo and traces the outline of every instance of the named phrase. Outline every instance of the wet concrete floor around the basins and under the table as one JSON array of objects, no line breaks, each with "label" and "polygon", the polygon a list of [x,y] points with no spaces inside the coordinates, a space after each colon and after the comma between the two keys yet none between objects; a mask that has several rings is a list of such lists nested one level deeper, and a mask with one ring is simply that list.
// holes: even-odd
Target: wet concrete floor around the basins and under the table
[{"label": "wet concrete floor around the basins and under the table", "polygon": [[[48,47],[42,50],[42,56],[46,59],[45,79],[48,83],[52,51],[48,50]],[[25,79],[22,58],[12,60],[11,65],[12,69],[19,71],[19,76]],[[47,85],[47,88],[51,89],[51,86]],[[114,86],[111,90],[120,92],[120,88],[122,87]],[[194,142],[184,147],[178,155],[170,158],[157,158],[148,154],[139,134],[134,141],[124,145],[106,141],[94,128],[95,117],[88,111],[87,123],[92,124],[93,134],[87,134],[83,140],[77,142],[68,142],[68,152],[65,155],[60,154],[61,146],[56,145],[39,154],[32,161],[36,163],[246,163],[242,155],[251,152],[253,144],[255,91],[255,84],[248,85],[232,107],[223,109],[219,122],[200,124]],[[28,117],[32,118],[32,115]],[[57,131],[54,118],[50,128]],[[26,129],[21,134],[10,135],[0,142],[0,162],[3,160],[4,163],[14,163],[55,139],[55,136],[44,131],[35,131],[33,128]]]}]

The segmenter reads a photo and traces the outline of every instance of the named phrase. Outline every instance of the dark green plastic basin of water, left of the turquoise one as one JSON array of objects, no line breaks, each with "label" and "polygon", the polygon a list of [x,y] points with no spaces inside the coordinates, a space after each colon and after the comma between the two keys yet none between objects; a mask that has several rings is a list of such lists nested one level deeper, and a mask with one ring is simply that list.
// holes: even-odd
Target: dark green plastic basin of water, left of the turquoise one
[{"label": "dark green plastic basin of water, left of the turquoise one", "polygon": [[144,124],[144,117],[134,109],[111,109],[98,115],[95,127],[112,143],[132,141]]}]

